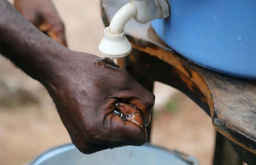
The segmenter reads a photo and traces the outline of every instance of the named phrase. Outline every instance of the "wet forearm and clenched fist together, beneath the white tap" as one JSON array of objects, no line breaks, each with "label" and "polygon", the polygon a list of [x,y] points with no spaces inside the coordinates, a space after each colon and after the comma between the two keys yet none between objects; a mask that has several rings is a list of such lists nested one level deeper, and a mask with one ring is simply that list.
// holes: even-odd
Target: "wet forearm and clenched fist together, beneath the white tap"
[{"label": "wet forearm and clenched fist together, beneath the white tap", "polygon": [[126,100],[139,109],[139,122],[145,122],[154,95],[113,61],[50,39],[5,0],[0,0],[0,53],[46,87],[82,153],[146,142],[144,129],[113,112],[118,100]]}]

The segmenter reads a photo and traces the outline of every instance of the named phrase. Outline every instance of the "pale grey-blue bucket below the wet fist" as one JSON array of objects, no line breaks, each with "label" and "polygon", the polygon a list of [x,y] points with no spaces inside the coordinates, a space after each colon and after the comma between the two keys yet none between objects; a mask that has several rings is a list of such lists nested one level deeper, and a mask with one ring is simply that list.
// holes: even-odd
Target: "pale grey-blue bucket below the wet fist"
[{"label": "pale grey-blue bucket below the wet fist", "polygon": [[73,144],[55,147],[39,155],[31,165],[188,165],[199,164],[193,156],[152,145],[125,146],[103,150],[94,154],[80,153]]}]

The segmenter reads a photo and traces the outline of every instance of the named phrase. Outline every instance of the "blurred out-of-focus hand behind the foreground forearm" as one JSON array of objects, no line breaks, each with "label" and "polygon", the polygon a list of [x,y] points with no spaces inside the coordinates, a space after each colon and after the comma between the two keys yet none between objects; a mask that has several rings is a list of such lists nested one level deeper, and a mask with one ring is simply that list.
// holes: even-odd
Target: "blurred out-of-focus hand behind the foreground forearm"
[{"label": "blurred out-of-focus hand behind the foreground forearm", "polygon": [[67,46],[64,24],[50,0],[15,0],[14,7],[40,31]]}]

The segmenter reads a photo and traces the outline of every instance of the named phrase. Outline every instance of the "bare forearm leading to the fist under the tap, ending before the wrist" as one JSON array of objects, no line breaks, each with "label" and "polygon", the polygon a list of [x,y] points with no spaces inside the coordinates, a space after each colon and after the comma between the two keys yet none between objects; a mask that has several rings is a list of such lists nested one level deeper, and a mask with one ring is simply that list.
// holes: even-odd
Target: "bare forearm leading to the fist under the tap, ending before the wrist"
[{"label": "bare forearm leading to the fist under the tap, ending before the wrist", "polygon": [[[0,0],[0,53],[32,78],[51,77],[69,50],[29,23],[9,2]],[[40,75],[40,77],[39,77]]]}]

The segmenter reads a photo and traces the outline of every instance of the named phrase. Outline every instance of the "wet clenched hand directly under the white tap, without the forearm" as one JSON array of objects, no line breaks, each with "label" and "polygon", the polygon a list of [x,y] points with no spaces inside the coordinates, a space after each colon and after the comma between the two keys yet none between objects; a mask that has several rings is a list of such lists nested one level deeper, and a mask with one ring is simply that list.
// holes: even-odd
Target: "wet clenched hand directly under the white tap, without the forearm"
[{"label": "wet clenched hand directly under the white tap, without the forearm", "polygon": [[[66,62],[52,69],[55,76],[42,83],[74,145],[85,154],[123,145],[143,145],[154,95],[108,58],[72,51],[68,54]],[[139,109],[141,113],[134,118],[139,124],[113,114],[120,100]],[[118,105],[129,111],[130,105],[123,106]]]}]

